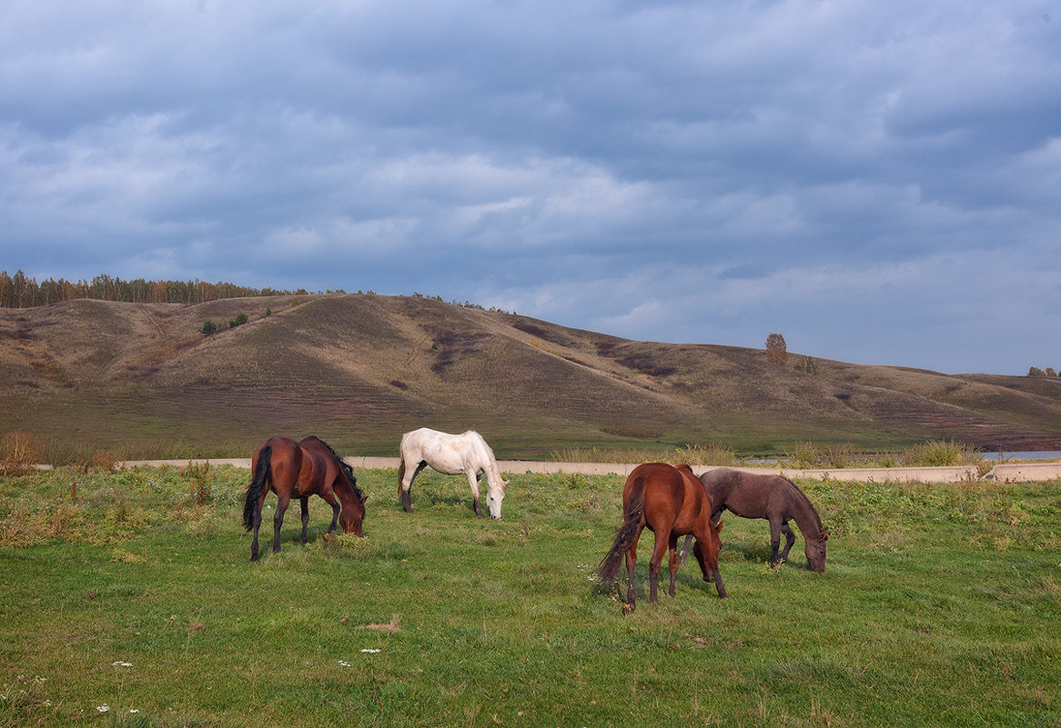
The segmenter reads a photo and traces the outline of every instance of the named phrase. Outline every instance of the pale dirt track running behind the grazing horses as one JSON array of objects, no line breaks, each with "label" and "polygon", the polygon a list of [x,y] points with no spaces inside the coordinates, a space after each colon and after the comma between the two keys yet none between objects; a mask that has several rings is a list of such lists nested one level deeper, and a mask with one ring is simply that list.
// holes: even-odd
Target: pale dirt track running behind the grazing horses
[{"label": "pale dirt track running behind the grazing horses", "polygon": [[[397,468],[398,458],[347,457],[344,460],[354,468]],[[181,467],[189,462],[195,464],[211,463],[214,465],[233,465],[250,468],[249,458],[231,458],[216,460],[133,460],[119,463],[124,467],[174,466]],[[498,466],[502,473],[578,473],[582,475],[629,475],[637,464],[626,463],[561,463],[535,460],[499,460]],[[695,467],[697,472],[714,469],[713,466]],[[777,467],[740,467],[736,469],[748,473],[775,473],[787,478],[810,480],[849,480],[858,482],[893,482],[893,483],[956,483],[961,481],[989,480],[996,482],[1026,482],[1061,479],[1061,462],[1048,463],[999,463],[987,475],[979,475],[975,465],[957,465],[946,467],[845,467],[800,470]]]}]

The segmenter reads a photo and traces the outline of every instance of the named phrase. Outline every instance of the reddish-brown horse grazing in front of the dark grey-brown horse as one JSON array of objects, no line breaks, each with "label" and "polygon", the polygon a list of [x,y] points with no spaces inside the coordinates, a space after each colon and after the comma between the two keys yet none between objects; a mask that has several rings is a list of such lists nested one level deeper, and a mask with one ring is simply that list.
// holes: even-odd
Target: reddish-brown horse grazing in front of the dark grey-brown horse
[{"label": "reddish-brown horse grazing in front of the dark grey-brown horse", "polygon": [[[623,527],[615,534],[611,550],[601,562],[598,569],[602,582],[610,582],[619,573],[620,558],[626,554],[627,588],[626,599],[630,609],[634,607],[633,567],[638,562],[638,539],[644,528],[656,534],[656,544],[648,562],[648,601],[659,601],[656,586],[663,553],[671,551],[671,590],[674,597],[674,580],[678,571],[678,536],[696,536],[693,553],[700,564],[703,581],[714,579],[718,597],[726,598],[721,574],[718,573],[718,551],[721,540],[718,532],[721,522],[711,521],[711,499],[703,486],[693,475],[689,465],[674,467],[666,463],[645,463],[638,465],[626,479],[623,487]],[[710,567],[710,570],[709,570]]]}]

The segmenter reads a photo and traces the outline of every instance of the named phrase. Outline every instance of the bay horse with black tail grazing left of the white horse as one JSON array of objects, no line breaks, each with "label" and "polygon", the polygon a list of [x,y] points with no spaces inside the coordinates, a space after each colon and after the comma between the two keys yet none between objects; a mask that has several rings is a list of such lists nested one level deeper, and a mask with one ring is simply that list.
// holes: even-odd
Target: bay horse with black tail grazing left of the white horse
[{"label": "bay horse with black tail grazing left of the white horse", "polygon": [[[361,535],[365,518],[365,497],[358,490],[353,470],[335,455],[331,445],[310,436],[301,442],[290,438],[271,438],[255,450],[250,462],[254,478],[243,503],[243,526],[254,529],[250,561],[258,561],[258,528],[262,522],[265,496],[276,493],[276,515],[273,517],[273,551],[280,551],[280,527],[283,513],[292,498],[302,501],[302,545],[310,522],[310,496],[317,495],[332,507],[332,522],[328,533],[342,523],[344,533]],[[342,512],[340,504],[342,503]]]}]

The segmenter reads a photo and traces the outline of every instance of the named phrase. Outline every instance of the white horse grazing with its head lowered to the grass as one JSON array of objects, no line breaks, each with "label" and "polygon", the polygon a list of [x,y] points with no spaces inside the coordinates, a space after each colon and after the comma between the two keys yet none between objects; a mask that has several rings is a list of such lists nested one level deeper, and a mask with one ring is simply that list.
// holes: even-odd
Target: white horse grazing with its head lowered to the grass
[{"label": "white horse grazing with its head lowered to the grass", "polygon": [[483,440],[483,436],[473,430],[462,434],[449,434],[421,427],[406,432],[401,438],[401,459],[398,462],[398,493],[401,504],[406,513],[413,512],[413,500],[410,490],[413,481],[427,466],[446,475],[464,473],[468,476],[468,484],[474,496],[472,508],[475,515],[483,517],[479,507],[479,480],[486,474],[486,504],[490,509],[491,518],[501,518],[501,501],[505,498],[508,481],[501,477],[498,461],[493,459],[493,450]]}]

